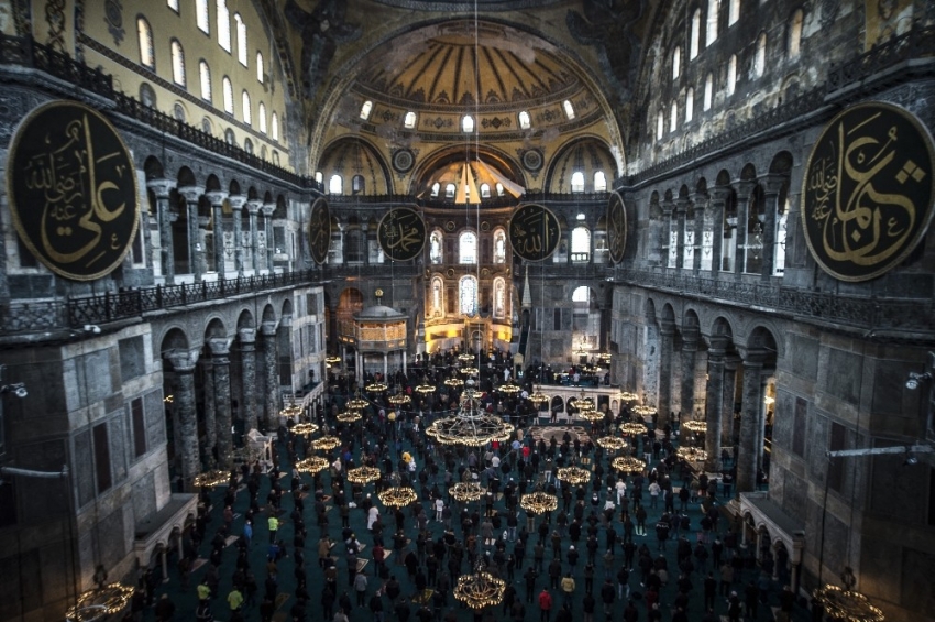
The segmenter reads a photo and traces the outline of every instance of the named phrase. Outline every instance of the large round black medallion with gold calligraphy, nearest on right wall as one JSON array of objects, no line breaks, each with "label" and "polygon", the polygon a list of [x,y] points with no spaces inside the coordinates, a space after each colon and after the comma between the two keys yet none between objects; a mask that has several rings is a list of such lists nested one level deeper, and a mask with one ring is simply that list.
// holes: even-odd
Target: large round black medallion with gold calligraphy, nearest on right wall
[{"label": "large round black medallion with gold calligraphy, nearest on right wall", "polygon": [[802,229],[812,257],[842,281],[884,274],[932,220],[932,137],[892,103],[848,108],[825,127],[802,183]]}]

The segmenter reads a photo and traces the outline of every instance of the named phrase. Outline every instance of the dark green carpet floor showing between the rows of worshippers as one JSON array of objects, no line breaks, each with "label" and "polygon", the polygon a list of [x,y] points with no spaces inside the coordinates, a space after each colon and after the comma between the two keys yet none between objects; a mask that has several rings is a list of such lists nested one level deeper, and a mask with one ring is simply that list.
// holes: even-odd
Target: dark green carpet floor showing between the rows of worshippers
[{"label": "dark green carpet floor showing between the rows of worshippers", "polygon": [[[544,419],[542,421],[544,424]],[[290,465],[286,458],[286,451],[283,447],[278,447],[278,455],[280,457],[280,468],[284,473],[287,473],[282,479],[282,484],[285,490],[289,489],[289,476]],[[404,450],[413,450],[409,446],[408,441],[403,443]],[[638,455],[641,455],[638,454]],[[604,459],[606,466],[607,459]],[[654,466],[654,465],[653,465]],[[512,476],[518,480],[518,473],[514,470]],[[327,471],[321,473],[321,479],[323,482],[323,488],[327,492],[330,492],[330,476]],[[606,476],[605,476],[606,478]],[[506,483],[508,476],[503,478],[503,483]],[[310,483],[311,478],[309,476],[302,476],[302,480]],[[444,490],[442,476],[438,476],[438,485],[440,490]],[[680,485],[682,482],[678,473],[673,474],[672,483],[674,485]],[[262,478],[262,485],[260,489],[260,503],[261,505],[265,504],[267,492],[270,491],[271,481],[270,478],[264,476]],[[418,487],[417,487],[418,488]],[[370,484],[365,487],[365,492],[373,492],[373,485]],[[346,487],[348,499],[351,499],[351,489],[350,484]],[[222,488],[215,489],[210,492],[211,501],[212,501],[212,510],[211,510],[211,522],[208,524],[208,528],[206,530],[205,541],[201,543],[198,548],[198,559],[194,564],[194,569],[191,571],[190,578],[188,580],[187,589],[183,588],[182,580],[178,571],[177,557],[173,555],[169,560],[169,576],[168,580],[163,582],[161,572],[158,569],[156,570],[156,583],[154,590],[154,598],[156,601],[162,597],[162,594],[167,594],[167,597],[175,603],[176,613],[174,620],[196,620],[196,609],[198,605],[197,590],[196,587],[204,579],[206,572],[208,571],[209,563],[208,558],[211,554],[211,539],[215,536],[218,527],[223,524],[223,495],[224,490]],[[607,495],[606,487],[602,488],[601,492],[601,508],[604,506],[604,501]],[[376,495],[373,495],[374,500]],[[644,499],[648,500],[649,495],[644,493]],[[591,485],[587,485],[587,495],[586,495],[586,512],[585,516],[590,514],[591,510]],[[724,499],[718,499],[718,503],[726,502]],[[280,526],[277,539],[282,539],[286,544],[286,549],[288,552],[288,557],[280,559],[277,565],[277,587],[276,587],[276,602],[275,602],[275,614],[273,620],[276,622],[283,621],[292,621],[293,616],[290,614],[290,610],[295,603],[295,587],[296,587],[296,578],[295,578],[295,556],[293,549],[293,536],[294,536],[294,527],[292,521],[289,520],[289,514],[293,512],[294,501],[292,499],[290,493],[286,493],[283,496],[282,501],[282,511],[280,519],[284,521],[284,524]],[[435,512],[432,511],[431,503],[428,500],[422,501],[422,504],[426,508],[426,514],[429,519],[435,517]],[[648,505],[647,501],[647,505]],[[241,483],[240,490],[237,493],[237,501],[233,506],[233,511],[235,513],[235,517],[233,520],[231,533],[234,535],[240,535],[243,532],[243,521],[244,514],[249,506],[249,493],[246,488]],[[381,508],[383,522],[385,525],[384,530],[384,539],[385,547],[387,550],[393,548],[393,533],[395,528],[395,522],[393,520],[392,511],[387,511],[382,508],[378,503],[377,506]],[[327,527],[328,535],[338,543],[334,548],[334,557],[337,558],[337,568],[338,568],[338,597],[346,591],[353,607],[349,613],[349,620],[351,622],[371,622],[375,619],[373,613],[367,609],[366,605],[359,607],[356,605],[356,597],[353,591],[352,586],[349,583],[349,572],[346,569],[346,563],[344,559],[344,545],[341,537],[341,517],[339,514],[339,510],[333,506],[333,502],[328,504],[328,514],[329,514],[329,525]],[[457,502],[452,502],[452,508],[454,511],[454,519],[452,520],[452,530],[457,537],[464,542],[464,535],[462,534],[461,522],[459,519],[460,513],[460,504]],[[479,509],[476,503],[469,504],[469,508],[473,511]],[[502,495],[496,500],[494,508],[499,511],[502,514],[506,512],[506,506]],[[679,501],[675,500],[675,508],[679,508]],[[267,509],[268,510],[268,509]],[[676,600],[676,596],[679,592],[678,579],[679,579],[679,570],[676,564],[676,549],[678,543],[676,541],[670,539],[666,546],[664,552],[658,552],[658,541],[654,533],[654,525],[660,515],[662,514],[663,503],[660,499],[658,503],[658,508],[649,508],[647,506],[648,519],[647,519],[647,535],[636,535],[634,537],[635,544],[637,547],[646,544],[651,553],[652,558],[657,558],[660,555],[664,557],[668,563],[670,579],[668,583],[661,589],[659,594],[659,603],[660,603],[660,612],[661,620],[669,621],[673,619],[674,609],[673,603]],[[562,501],[559,500],[559,511],[562,511]],[[689,504],[688,514],[691,520],[691,530],[688,534],[689,539],[694,546],[696,542],[696,534],[701,530],[700,521],[702,517],[701,506],[697,502]],[[260,614],[260,603],[263,599],[263,594],[265,592],[264,581],[267,576],[267,553],[268,553],[268,530],[267,530],[267,519],[268,511],[263,511],[257,515],[254,525],[254,535],[253,542],[249,549],[249,565],[250,571],[252,571],[256,578],[256,582],[258,585],[258,590],[256,592],[255,603],[245,605],[242,609],[243,619],[248,621],[258,621],[261,620]],[[624,533],[623,525],[619,522],[619,511],[615,515],[615,522],[613,524],[614,528],[617,532],[618,536],[622,536]],[[726,516],[726,515],[725,515]],[[722,535],[725,534],[729,527],[728,519],[722,516],[717,524],[717,532]],[[321,592],[324,586],[324,574],[322,569],[318,565],[318,554],[317,554],[317,543],[321,537],[321,531],[317,526],[317,521],[315,516],[314,509],[314,498],[311,495],[305,499],[305,525],[308,531],[308,535],[305,543],[305,568],[308,577],[308,592],[310,600],[307,603],[306,608],[306,620],[314,621],[324,621],[330,622],[329,620],[324,620],[324,610],[321,604]],[[383,581],[378,579],[378,577],[374,574],[374,565],[371,560],[371,552],[373,550],[373,541],[370,532],[366,528],[366,515],[362,509],[351,509],[350,510],[350,526],[355,532],[358,539],[365,545],[364,549],[360,554],[361,560],[369,560],[367,564],[363,565],[363,572],[366,574],[369,579],[369,586],[366,591],[366,600],[370,599],[375,591],[381,588]],[[475,613],[471,609],[468,609],[461,603],[457,602],[451,593],[448,594],[447,605],[442,607],[432,607],[431,600],[429,600],[427,604],[428,612],[420,612],[418,604],[411,604],[411,615],[409,620],[413,622],[431,622],[432,620],[451,620],[457,621],[490,621],[490,620],[507,620],[513,619],[519,622],[519,620],[529,620],[529,621],[538,621],[540,620],[540,611],[538,607],[537,597],[543,587],[547,587],[550,583],[550,577],[548,572],[549,564],[553,557],[553,546],[551,542],[551,537],[548,537],[546,541],[546,554],[544,561],[542,567],[542,572],[539,574],[539,577],[535,581],[535,587],[532,589],[532,601],[527,603],[527,588],[526,580],[524,579],[524,575],[526,570],[534,565],[534,547],[538,542],[538,525],[541,522],[541,519],[537,519],[535,521],[536,531],[534,531],[528,538],[526,546],[526,556],[524,558],[521,567],[517,567],[514,570],[514,578],[508,583],[513,587],[516,592],[517,600],[526,603],[526,611],[522,618],[513,618],[510,612],[505,612],[504,608],[495,607],[490,608],[490,611],[485,611],[483,613]],[[522,527],[527,523],[525,514],[520,511],[519,514],[519,526]],[[505,525],[505,522],[504,522]],[[551,531],[557,528],[557,513],[553,513],[551,519]],[[585,524],[586,527],[586,524]],[[499,532],[503,532],[506,527],[502,526]],[[431,534],[431,537],[439,538],[443,534],[443,525],[440,522],[430,521],[427,525],[428,532]],[[497,535],[499,535],[499,532]],[[411,514],[407,512],[406,520],[406,536],[409,538],[410,543],[408,548],[415,549],[416,547],[416,537],[418,534],[418,528],[416,521],[411,517]],[[712,536],[713,541],[714,536]],[[587,552],[585,547],[586,539],[586,531],[583,533],[580,542],[578,543],[576,548],[580,552],[581,558],[578,561],[574,568],[570,567],[568,563],[568,550],[569,547],[573,544],[571,538],[565,535],[565,537],[561,538],[560,547],[562,552],[562,568],[561,575],[565,576],[566,572],[571,572],[572,577],[575,580],[575,591],[570,599],[570,609],[572,612],[572,618],[578,620],[583,615],[583,599],[585,594],[585,565],[587,563]],[[602,559],[606,548],[605,548],[605,530],[603,527],[598,527],[597,539],[600,543],[600,549],[596,555],[595,565],[594,565],[594,588],[593,596],[596,599],[596,607],[594,611],[595,620],[623,620],[624,619],[624,610],[627,605],[627,599],[615,599],[614,604],[608,608],[609,613],[605,611],[605,607],[602,602],[601,598],[601,588],[603,586],[603,580],[605,577],[605,564]],[[227,602],[227,597],[231,591],[232,587],[232,578],[237,568],[237,558],[239,547],[237,545],[237,538],[229,537],[228,545],[224,547],[222,556],[221,556],[221,566],[220,566],[220,583],[219,589],[217,590],[217,594],[210,601],[210,607],[216,620],[228,621],[232,619],[232,613]],[[490,550],[493,550],[492,547],[488,547]],[[710,548],[710,547],[708,547]],[[508,543],[506,547],[506,553],[509,554],[513,552],[513,544]],[[637,554],[638,556],[638,554]],[[725,557],[728,556],[728,553],[725,553]],[[400,556],[393,554],[387,559],[387,566],[396,577],[396,579],[400,583],[402,594],[400,598],[414,599],[417,598],[416,586],[414,581],[410,579],[405,566],[402,564]],[[616,555],[612,567],[612,583],[615,588],[617,588],[617,579],[616,572],[618,568],[624,564],[624,553],[622,550],[622,546],[618,544],[616,546]],[[711,568],[712,564],[708,560],[708,570],[714,570],[714,577],[719,578],[719,571],[716,568]],[[470,571],[468,560],[465,557],[465,561],[462,564],[461,569],[463,572]],[[440,567],[440,572],[447,570],[447,564],[442,561]],[[696,569],[690,577],[691,582],[693,585],[693,589],[689,592],[688,608],[686,608],[686,619],[691,622],[701,622],[704,619],[705,610],[704,610],[704,577],[705,574],[702,574],[698,569]],[[504,579],[507,577],[504,576]],[[746,568],[743,571],[743,577],[736,579],[736,583],[733,586],[734,589],[739,594],[740,601],[744,601],[745,597],[745,587],[749,583],[749,581],[759,581],[760,580],[760,569],[759,568]],[[648,620],[648,611],[646,599],[640,598],[645,592],[646,588],[641,587],[641,571],[637,566],[637,560],[635,557],[632,571],[630,574],[630,578],[628,581],[628,587],[630,591],[630,598],[634,600],[635,607],[639,612],[639,620]],[[774,612],[778,611],[779,607],[779,593],[782,588],[781,583],[777,583],[774,581],[766,581],[769,585],[769,593],[766,598],[767,603],[760,604],[757,611],[756,620],[773,620]],[[451,582],[452,587],[454,581]],[[560,592],[560,590],[550,590],[551,596],[554,601],[554,605],[551,612],[550,620],[556,621],[559,616],[559,609],[565,602],[565,598]],[[393,605],[389,602],[389,598],[385,594],[382,598],[385,611],[386,620],[396,620],[397,616],[393,610]],[[714,600],[714,608],[717,615],[717,620],[726,622],[727,618],[727,601],[723,596],[717,596]],[[334,609],[338,609],[338,603],[336,602]],[[754,618],[746,618],[748,620]],[[155,611],[153,608],[146,608],[143,620],[156,620]],[[585,622],[586,622],[585,616]],[[796,604],[793,613],[792,620],[805,622],[811,620],[810,613],[799,607]]]}]

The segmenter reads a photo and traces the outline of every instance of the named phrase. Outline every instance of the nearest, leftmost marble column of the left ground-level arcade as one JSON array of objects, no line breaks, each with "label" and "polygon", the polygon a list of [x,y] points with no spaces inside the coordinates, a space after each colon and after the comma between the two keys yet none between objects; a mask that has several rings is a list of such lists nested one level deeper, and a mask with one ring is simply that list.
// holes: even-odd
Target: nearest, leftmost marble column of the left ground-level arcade
[{"label": "nearest, leftmost marble column of the left ground-level arcade", "polygon": [[165,358],[175,370],[173,382],[173,419],[178,430],[176,451],[182,457],[183,489],[194,490],[195,476],[201,471],[198,455],[198,421],[195,414],[195,363],[198,354],[172,350]]}]

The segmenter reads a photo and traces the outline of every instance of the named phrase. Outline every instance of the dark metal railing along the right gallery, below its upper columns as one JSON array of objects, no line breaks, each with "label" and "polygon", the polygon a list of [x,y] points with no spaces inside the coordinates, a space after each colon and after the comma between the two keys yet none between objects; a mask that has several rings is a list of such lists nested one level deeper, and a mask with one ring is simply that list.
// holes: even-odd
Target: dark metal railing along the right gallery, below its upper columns
[{"label": "dark metal railing along the right gallery, below its upper columns", "polygon": [[930,331],[935,329],[935,304],[931,298],[877,298],[782,287],[762,282],[708,279],[693,274],[617,269],[617,283],[660,292],[716,298],[719,303],[755,306],[844,324],[868,330]]}]

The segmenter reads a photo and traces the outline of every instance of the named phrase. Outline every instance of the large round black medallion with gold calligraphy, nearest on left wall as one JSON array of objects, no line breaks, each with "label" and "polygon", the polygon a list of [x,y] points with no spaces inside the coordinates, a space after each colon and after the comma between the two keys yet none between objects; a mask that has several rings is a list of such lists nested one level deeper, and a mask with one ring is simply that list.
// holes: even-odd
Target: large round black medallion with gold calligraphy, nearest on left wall
[{"label": "large round black medallion with gold calligraphy, nearest on left wall", "polygon": [[75,281],[113,272],[140,222],[130,151],[100,112],[51,101],[30,112],[7,166],[10,212],[23,244]]}]

